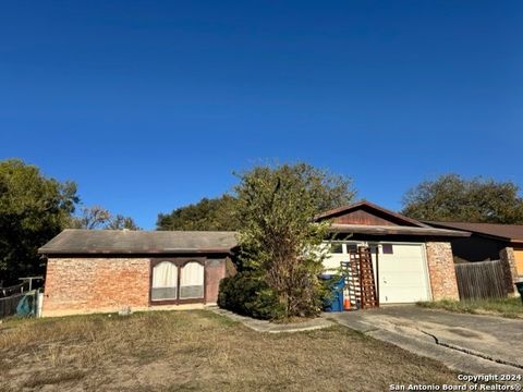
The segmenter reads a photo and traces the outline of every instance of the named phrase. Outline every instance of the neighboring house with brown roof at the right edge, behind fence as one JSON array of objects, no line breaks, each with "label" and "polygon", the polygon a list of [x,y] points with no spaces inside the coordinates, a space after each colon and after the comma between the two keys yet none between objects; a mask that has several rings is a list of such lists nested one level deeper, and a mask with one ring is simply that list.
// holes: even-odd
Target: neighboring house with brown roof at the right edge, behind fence
[{"label": "neighboring house with brown roof at the right edge, behind fence", "polygon": [[461,230],[471,233],[467,237],[452,238],[452,253],[460,261],[501,260],[507,290],[514,292],[514,283],[523,280],[523,225],[425,222],[434,228]]}]

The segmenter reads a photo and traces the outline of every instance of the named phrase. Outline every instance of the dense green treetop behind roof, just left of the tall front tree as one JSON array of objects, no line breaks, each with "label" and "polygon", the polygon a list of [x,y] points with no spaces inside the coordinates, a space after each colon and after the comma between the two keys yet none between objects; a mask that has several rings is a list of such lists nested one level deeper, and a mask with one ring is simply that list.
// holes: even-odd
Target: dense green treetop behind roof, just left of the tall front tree
[{"label": "dense green treetop behind roof, just left of the tall front tree", "polygon": [[230,195],[203,198],[197,204],[181,207],[170,213],[159,213],[157,230],[234,231],[240,222],[234,213],[238,200]]}]

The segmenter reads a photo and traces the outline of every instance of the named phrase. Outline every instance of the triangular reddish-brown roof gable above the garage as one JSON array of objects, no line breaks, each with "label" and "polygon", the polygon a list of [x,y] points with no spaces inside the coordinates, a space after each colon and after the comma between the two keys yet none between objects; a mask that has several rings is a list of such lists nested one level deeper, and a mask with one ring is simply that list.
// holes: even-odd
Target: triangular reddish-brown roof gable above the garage
[{"label": "triangular reddish-brown roof gable above the garage", "polygon": [[332,223],[361,225],[392,225],[427,228],[428,225],[415,219],[402,216],[367,200],[331,209],[318,215],[316,221],[330,219]]}]

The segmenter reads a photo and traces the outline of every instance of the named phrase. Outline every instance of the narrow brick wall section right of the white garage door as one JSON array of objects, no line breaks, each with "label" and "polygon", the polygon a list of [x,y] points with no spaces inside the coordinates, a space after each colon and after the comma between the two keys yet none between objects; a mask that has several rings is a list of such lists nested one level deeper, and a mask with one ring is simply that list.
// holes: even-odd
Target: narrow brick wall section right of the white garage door
[{"label": "narrow brick wall section right of the white garage door", "polygon": [[459,299],[452,248],[447,242],[427,242],[427,265],[433,299]]}]

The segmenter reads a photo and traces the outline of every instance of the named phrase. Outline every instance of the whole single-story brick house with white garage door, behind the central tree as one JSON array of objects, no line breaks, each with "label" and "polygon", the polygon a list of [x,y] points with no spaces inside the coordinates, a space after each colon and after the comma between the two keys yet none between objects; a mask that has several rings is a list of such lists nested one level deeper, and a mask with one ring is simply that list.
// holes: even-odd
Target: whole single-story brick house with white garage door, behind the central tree
[{"label": "whole single-story brick house with white garage door, behind the central tree", "polygon": [[[450,242],[470,233],[433,228],[368,201],[316,220],[332,222],[326,270],[358,246],[372,249],[379,303],[459,298]],[[39,249],[47,257],[42,313],[216,304],[236,248],[234,232],[64,230]]]}]

